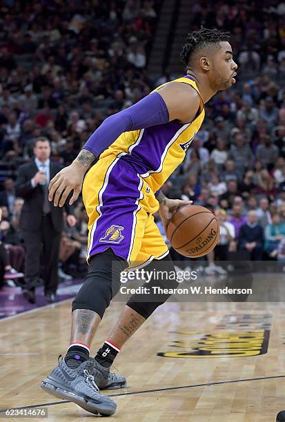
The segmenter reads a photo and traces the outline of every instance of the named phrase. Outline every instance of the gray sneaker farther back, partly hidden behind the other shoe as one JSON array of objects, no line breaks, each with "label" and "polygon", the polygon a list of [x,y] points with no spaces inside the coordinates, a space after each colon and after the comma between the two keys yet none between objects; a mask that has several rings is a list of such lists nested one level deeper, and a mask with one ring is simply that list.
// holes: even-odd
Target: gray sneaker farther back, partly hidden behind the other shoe
[{"label": "gray sneaker farther back, partly hidden behind the other shoe", "polygon": [[126,378],[122,375],[110,372],[110,368],[100,365],[95,358],[92,359],[94,366],[90,374],[94,376],[94,381],[100,390],[117,390],[127,386]]}]

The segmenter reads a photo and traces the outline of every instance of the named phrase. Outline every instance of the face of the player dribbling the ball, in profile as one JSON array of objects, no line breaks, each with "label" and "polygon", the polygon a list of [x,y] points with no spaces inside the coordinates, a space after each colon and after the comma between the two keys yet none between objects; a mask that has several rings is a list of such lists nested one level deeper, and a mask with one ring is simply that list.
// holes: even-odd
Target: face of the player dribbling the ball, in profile
[{"label": "face of the player dribbling the ball, in profile", "polygon": [[237,63],[233,61],[233,51],[230,43],[222,41],[221,48],[213,54],[213,68],[210,72],[211,85],[215,90],[228,90],[235,83]]}]

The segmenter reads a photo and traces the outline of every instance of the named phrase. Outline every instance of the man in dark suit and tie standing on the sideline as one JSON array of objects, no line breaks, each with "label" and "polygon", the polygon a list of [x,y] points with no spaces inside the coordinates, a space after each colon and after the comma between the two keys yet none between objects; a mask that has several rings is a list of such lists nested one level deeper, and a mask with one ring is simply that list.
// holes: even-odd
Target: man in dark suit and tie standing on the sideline
[{"label": "man in dark suit and tie standing on the sideline", "polygon": [[[20,229],[26,246],[25,295],[35,303],[35,287],[39,284],[41,246],[44,263],[45,294],[50,302],[55,301],[58,285],[58,260],[63,208],[48,201],[48,184],[61,168],[50,161],[50,142],[45,137],[35,141],[35,159],[19,167],[15,183],[16,194],[24,199],[20,217]],[[70,226],[76,219],[71,208],[65,205]]]}]

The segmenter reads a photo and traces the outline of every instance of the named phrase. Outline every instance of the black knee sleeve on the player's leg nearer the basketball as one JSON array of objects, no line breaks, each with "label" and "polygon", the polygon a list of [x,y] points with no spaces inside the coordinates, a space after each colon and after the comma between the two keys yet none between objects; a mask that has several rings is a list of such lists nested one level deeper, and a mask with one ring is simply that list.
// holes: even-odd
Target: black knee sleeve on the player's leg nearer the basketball
[{"label": "black knee sleeve on the player's leg nearer the basketball", "polygon": [[[175,266],[173,261],[170,258],[170,255],[166,255],[163,259],[160,260],[153,260],[151,261],[146,267],[144,268],[146,271],[150,272],[152,270],[158,271],[167,271],[173,272],[176,274]],[[176,279],[167,279],[167,280],[154,280],[151,279],[149,283],[144,283],[144,287],[150,288],[151,294],[133,294],[132,297],[128,300],[127,305],[135,310],[141,316],[144,316],[145,319],[150,316],[159,305],[162,305],[164,302],[167,301],[168,297],[171,294],[155,294],[152,292],[153,286],[157,286],[160,288],[167,288],[167,289],[174,289],[177,288],[179,283],[177,283]]]}]

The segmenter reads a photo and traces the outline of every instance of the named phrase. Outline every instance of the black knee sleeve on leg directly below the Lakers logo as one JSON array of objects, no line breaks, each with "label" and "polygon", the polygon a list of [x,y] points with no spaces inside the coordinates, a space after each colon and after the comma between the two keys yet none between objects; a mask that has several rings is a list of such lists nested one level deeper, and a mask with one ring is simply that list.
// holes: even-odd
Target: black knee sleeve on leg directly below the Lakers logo
[{"label": "black knee sleeve on leg directly below the Lakers logo", "polygon": [[128,263],[117,257],[111,249],[91,257],[86,279],[72,302],[72,312],[89,309],[102,319],[111,299],[119,291],[120,272],[127,266]]}]

